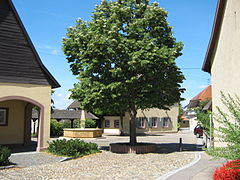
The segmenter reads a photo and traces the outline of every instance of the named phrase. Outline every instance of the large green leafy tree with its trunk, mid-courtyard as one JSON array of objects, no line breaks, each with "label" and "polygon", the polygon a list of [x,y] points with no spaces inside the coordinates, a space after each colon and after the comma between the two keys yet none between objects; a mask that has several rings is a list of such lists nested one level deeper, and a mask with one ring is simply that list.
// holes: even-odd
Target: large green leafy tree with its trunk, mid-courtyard
[{"label": "large green leafy tree with its trunk, mid-courtyard", "polygon": [[72,97],[86,109],[117,104],[127,110],[131,144],[137,142],[137,109],[168,109],[181,100],[184,76],[175,59],[183,45],[166,18],[167,12],[149,0],[103,0],[91,21],[78,19],[63,39],[79,78]]}]

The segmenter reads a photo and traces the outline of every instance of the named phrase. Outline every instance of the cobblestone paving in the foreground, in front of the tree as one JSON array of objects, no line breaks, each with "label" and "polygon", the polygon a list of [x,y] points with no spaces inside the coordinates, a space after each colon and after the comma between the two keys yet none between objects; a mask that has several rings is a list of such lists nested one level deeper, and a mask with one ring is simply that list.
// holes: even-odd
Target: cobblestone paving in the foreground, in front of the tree
[{"label": "cobblestone paving in the foreground, in front of the tree", "polygon": [[0,171],[0,179],[156,179],[193,161],[194,153],[114,154],[103,151],[67,162]]}]

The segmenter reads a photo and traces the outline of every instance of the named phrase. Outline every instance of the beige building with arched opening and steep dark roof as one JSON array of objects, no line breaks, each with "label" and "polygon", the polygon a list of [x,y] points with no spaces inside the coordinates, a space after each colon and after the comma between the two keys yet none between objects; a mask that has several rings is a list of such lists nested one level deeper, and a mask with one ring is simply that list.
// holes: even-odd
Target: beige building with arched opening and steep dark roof
[{"label": "beige building with arched opening and steep dark roof", "polygon": [[50,136],[51,90],[60,85],[42,64],[11,0],[0,1],[0,12],[0,144],[31,143],[37,106],[41,151]]}]

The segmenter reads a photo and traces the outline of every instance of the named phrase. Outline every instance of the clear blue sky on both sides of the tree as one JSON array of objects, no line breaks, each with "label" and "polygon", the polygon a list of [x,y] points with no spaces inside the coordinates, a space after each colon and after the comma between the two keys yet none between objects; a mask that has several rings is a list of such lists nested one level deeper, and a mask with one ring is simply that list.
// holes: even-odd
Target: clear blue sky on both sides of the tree
[{"label": "clear blue sky on both sides of the tree", "polygon": [[[66,28],[77,18],[91,20],[101,0],[12,0],[44,65],[61,84],[55,89],[55,107],[66,108],[72,100],[68,91],[77,82],[61,51]],[[153,2],[153,1],[151,1]],[[186,80],[183,105],[210,84],[210,76],[201,70],[211,35],[217,0],[156,0],[169,12],[177,41],[184,43],[183,55],[176,60]]]}]

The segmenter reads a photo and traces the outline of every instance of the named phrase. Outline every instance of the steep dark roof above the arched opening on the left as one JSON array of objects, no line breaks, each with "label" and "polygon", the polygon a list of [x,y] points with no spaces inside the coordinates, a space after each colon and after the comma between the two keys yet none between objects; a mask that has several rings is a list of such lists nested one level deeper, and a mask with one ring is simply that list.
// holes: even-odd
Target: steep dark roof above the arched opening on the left
[{"label": "steep dark roof above the arched opening on the left", "polygon": [[11,0],[0,0],[0,82],[60,87],[40,60]]}]

